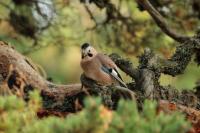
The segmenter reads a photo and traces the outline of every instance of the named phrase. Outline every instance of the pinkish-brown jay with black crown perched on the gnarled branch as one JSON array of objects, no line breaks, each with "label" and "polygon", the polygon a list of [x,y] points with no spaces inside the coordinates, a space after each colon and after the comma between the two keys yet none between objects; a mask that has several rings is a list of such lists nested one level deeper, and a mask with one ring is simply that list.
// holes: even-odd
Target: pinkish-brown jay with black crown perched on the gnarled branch
[{"label": "pinkish-brown jay with black crown perched on the gnarled branch", "polygon": [[88,43],[84,43],[81,46],[81,53],[82,59],[80,65],[86,77],[101,85],[118,84],[127,88],[117,71],[117,65],[109,56],[98,53]]}]

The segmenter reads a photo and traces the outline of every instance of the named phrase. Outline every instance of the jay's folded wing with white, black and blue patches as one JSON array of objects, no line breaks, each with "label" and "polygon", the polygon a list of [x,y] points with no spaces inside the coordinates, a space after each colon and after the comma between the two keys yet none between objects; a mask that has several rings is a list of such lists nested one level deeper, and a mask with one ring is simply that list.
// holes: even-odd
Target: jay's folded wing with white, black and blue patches
[{"label": "jay's folded wing with white, black and blue patches", "polygon": [[101,69],[110,76],[112,76],[115,80],[117,80],[120,83],[120,85],[127,88],[126,84],[122,80],[122,77],[117,71],[117,65],[110,59],[110,57],[104,54],[97,54],[97,58],[102,64]]}]

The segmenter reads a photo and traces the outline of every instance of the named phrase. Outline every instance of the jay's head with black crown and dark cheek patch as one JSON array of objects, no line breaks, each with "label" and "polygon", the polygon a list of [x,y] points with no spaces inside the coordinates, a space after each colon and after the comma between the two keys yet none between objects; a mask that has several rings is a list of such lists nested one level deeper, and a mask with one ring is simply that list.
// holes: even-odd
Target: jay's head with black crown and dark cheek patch
[{"label": "jay's head with black crown and dark cheek patch", "polygon": [[81,46],[81,54],[82,59],[93,58],[97,54],[97,51],[89,43],[84,43]]}]

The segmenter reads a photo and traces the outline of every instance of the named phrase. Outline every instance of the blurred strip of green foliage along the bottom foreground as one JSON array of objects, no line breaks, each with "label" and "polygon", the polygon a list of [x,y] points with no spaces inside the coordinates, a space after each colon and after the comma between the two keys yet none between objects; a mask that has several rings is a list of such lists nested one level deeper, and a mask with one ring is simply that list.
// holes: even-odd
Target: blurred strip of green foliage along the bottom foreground
[{"label": "blurred strip of green foliage along the bottom foreground", "polygon": [[25,103],[16,96],[0,97],[0,132],[5,133],[176,133],[187,132],[190,124],[180,113],[156,113],[156,103],[146,101],[138,111],[133,101],[120,101],[114,112],[106,109],[99,98],[88,98],[85,109],[66,118],[38,119],[41,106],[37,92]]}]

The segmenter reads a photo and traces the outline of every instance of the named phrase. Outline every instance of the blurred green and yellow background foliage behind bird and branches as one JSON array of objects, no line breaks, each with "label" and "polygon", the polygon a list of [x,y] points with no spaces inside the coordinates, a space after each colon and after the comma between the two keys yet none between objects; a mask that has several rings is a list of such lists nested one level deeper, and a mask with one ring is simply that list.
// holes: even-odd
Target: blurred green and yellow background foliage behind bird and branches
[{"label": "blurred green and yellow background foliage behind bird and branches", "polygon": [[[150,0],[177,32],[200,31],[199,0]],[[80,46],[118,53],[134,66],[145,47],[170,58],[179,45],[134,0],[1,0],[0,40],[13,45],[56,83],[80,82]],[[44,72],[43,72],[44,73]],[[130,79],[123,74],[125,81]],[[192,89],[200,80],[191,62],[184,74],[162,75],[162,85]]]}]

